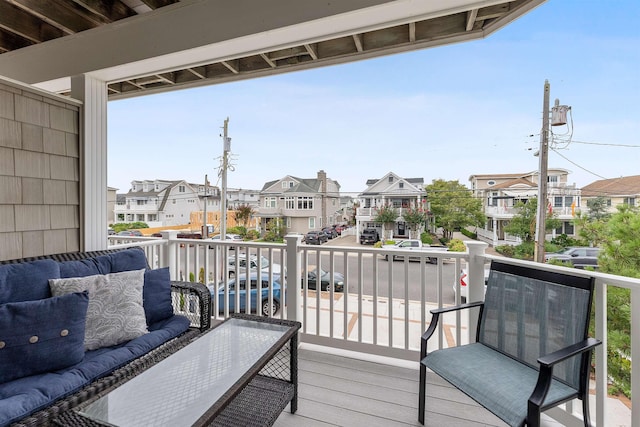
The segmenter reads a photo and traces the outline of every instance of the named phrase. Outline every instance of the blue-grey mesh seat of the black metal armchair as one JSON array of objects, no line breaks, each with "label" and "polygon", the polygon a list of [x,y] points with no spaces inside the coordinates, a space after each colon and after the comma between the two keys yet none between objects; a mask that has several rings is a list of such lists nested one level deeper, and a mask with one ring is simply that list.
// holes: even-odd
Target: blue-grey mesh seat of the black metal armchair
[{"label": "blue-grey mesh seat of the black metal armchair", "polygon": [[[538,380],[536,369],[481,343],[437,350],[421,363],[510,426],[523,425]],[[576,389],[553,380],[544,404],[577,395]]]}]

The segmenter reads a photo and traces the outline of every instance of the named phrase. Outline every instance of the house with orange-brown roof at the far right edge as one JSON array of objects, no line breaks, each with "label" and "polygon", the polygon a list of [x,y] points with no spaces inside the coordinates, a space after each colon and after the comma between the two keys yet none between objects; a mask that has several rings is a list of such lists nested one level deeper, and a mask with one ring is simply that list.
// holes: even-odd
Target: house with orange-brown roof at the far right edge
[{"label": "house with orange-brown roof at the far right edge", "polygon": [[601,179],[582,187],[580,209],[583,212],[588,211],[589,201],[597,197],[606,199],[609,213],[615,213],[616,207],[622,204],[638,206],[638,201],[640,201],[640,175]]}]

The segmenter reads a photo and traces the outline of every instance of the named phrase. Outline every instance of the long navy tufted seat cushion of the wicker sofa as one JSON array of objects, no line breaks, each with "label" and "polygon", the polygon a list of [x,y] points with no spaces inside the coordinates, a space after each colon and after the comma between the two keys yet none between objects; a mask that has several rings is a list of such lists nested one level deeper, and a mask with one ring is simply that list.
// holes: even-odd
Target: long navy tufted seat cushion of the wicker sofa
[{"label": "long navy tufted seat cushion of the wicker sofa", "polygon": [[55,372],[0,384],[0,426],[6,426],[79,391],[128,362],[175,338],[189,328],[189,320],[174,315],[149,326],[150,332],[129,342],[85,353],[82,362]]}]

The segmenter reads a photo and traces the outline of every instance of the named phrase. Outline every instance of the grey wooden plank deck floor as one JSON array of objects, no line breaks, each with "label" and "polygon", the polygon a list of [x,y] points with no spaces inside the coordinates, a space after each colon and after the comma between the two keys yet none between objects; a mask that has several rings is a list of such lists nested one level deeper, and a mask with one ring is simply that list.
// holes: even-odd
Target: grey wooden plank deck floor
[{"label": "grey wooden plank deck floor", "polygon": [[[287,408],[275,426],[420,426],[418,381],[417,363],[398,367],[302,348],[298,411]],[[437,375],[428,373],[427,382],[426,426],[506,426]]]}]

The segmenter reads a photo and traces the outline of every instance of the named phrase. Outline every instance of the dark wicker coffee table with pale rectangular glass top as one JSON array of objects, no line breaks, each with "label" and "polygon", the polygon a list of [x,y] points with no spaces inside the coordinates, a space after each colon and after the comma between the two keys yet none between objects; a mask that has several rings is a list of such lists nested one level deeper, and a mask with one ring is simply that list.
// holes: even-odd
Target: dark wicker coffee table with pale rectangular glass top
[{"label": "dark wicker coffee table with pale rectangular glass top", "polygon": [[297,409],[299,322],[234,315],[60,425],[270,426]]}]

